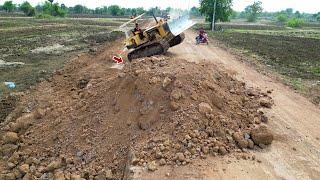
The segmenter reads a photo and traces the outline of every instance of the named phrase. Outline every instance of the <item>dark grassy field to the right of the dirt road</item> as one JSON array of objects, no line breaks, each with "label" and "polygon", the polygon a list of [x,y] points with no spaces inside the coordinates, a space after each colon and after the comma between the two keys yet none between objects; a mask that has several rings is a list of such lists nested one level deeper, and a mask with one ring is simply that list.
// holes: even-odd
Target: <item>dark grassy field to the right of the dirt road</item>
[{"label": "dark grassy field to the right of the dirt road", "polygon": [[219,34],[216,38],[266,57],[264,63],[283,75],[310,80],[320,78],[319,39],[252,33]]}]

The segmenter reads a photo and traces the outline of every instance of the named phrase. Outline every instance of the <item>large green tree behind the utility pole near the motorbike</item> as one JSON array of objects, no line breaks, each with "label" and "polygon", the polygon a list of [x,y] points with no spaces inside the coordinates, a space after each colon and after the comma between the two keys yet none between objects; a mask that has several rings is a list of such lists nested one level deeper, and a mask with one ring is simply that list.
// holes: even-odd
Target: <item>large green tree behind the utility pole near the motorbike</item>
[{"label": "large green tree behind the utility pole near the motorbike", "polygon": [[232,0],[200,0],[200,13],[205,15],[206,21],[213,23],[214,3],[216,1],[215,21],[229,21],[232,14]]}]

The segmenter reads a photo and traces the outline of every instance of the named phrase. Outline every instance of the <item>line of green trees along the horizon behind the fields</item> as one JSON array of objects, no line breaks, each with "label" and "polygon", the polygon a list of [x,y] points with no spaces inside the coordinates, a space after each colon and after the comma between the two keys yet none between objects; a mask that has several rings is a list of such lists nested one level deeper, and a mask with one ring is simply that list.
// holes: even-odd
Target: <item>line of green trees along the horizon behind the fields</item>
[{"label": "line of green trees along the horizon behind the fields", "polygon": [[[209,22],[225,22],[230,19],[246,18],[249,22],[255,22],[258,18],[266,18],[270,20],[276,20],[280,24],[288,24],[289,26],[299,26],[304,21],[319,21],[320,12],[317,14],[294,12],[292,8],[280,12],[264,12],[262,3],[256,1],[253,4],[247,6],[244,11],[236,12],[232,7],[232,0],[200,0],[200,7],[192,7],[190,11],[160,7],[152,7],[145,10],[142,7],[139,8],[123,8],[118,5],[97,7],[90,9],[83,5],[75,5],[73,7],[66,7],[64,4],[54,2],[54,0],[45,1],[43,4],[38,4],[33,7],[28,1],[22,4],[16,5],[12,1],[6,1],[3,5],[0,5],[0,11],[13,12],[22,11],[27,16],[44,15],[44,16],[59,16],[65,17],[67,14],[99,14],[99,15],[112,15],[112,16],[136,16],[142,13],[147,15],[155,14],[156,16],[164,16],[170,14],[170,12],[189,13],[192,16],[204,16]],[[214,8],[214,6],[216,8]],[[215,12],[214,12],[215,11]],[[215,21],[213,21],[213,15],[215,14]]]}]

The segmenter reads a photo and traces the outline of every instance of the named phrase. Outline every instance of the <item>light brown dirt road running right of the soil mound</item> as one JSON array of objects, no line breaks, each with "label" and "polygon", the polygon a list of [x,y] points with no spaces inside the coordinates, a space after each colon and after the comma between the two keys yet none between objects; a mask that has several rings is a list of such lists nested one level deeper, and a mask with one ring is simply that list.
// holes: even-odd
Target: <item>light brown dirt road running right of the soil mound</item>
[{"label": "light brown dirt road running right of the soil mound", "polygon": [[215,43],[196,46],[195,36],[194,32],[187,31],[184,43],[172,48],[169,56],[194,62],[211,61],[234,73],[248,86],[274,90],[275,105],[266,114],[276,140],[261,152],[250,152],[258,162],[238,160],[232,155],[212,157],[189,167],[163,167],[152,174],[141,172],[136,174],[137,179],[319,179],[320,109]]}]

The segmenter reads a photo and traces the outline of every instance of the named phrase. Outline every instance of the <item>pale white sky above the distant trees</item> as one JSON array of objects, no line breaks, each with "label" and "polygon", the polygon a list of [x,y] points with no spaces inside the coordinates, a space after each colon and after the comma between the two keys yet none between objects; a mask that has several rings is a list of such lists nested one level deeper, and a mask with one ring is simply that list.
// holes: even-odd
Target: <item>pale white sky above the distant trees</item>
[{"label": "pale white sky above the distant trees", "polygon": [[[3,4],[5,0],[0,0]],[[20,4],[25,0],[12,0],[16,4]],[[44,0],[28,0],[32,5],[44,2]],[[233,9],[243,11],[244,8],[252,4],[255,0],[233,0]],[[265,11],[274,12],[293,8],[295,11],[316,13],[320,12],[320,0],[260,0]],[[199,6],[199,0],[55,0],[58,3],[64,3],[66,6],[74,6],[82,4],[89,8],[101,6],[109,6],[117,4],[121,7],[150,7],[159,6],[161,8],[173,7],[188,9],[193,6]]]}]

